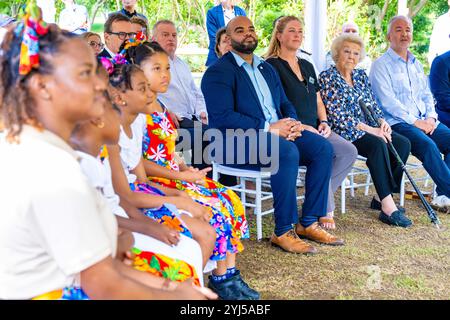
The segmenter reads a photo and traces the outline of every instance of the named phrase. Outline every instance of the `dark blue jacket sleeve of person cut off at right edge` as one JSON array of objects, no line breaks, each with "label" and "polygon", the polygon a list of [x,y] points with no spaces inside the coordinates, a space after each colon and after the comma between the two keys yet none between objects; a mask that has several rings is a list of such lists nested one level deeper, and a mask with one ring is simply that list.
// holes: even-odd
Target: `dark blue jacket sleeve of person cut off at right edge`
[{"label": "dark blue jacket sleeve of person cut off at right edge", "polygon": [[439,121],[450,127],[450,51],[433,60],[430,70],[430,89],[436,99]]}]

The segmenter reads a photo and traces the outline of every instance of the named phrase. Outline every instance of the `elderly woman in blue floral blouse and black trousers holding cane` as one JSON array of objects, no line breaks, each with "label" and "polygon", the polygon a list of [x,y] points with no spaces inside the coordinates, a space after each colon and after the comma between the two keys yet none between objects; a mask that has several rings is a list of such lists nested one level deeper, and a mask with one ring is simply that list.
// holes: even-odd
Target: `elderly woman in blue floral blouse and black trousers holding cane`
[{"label": "elderly woman in blue floral blouse and black trousers holding cane", "polygon": [[[396,206],[392,194],[400,191],[403,175],[401,166],[388,148],[392,141],[401,159],[406,163],[411,144],[405,137],[392,132],[383,119],[383,113],[375,100],[369,79],[363,69],[355,69],[364,58],[363,40],[353,34],[337,37],[331,45],[336,66],[319,76],[320,94],[328,112],[331,129],[352,142],[358,154],[367,158],[378,199],[372,209],[381,210],[379,219],[389,225],[408,227],[412,224],[403,209]],[[359,100],[371,108],[381,121],[381,126],[370,123],[359,105]],[[381,203],[380,203],[381,199]]]}]

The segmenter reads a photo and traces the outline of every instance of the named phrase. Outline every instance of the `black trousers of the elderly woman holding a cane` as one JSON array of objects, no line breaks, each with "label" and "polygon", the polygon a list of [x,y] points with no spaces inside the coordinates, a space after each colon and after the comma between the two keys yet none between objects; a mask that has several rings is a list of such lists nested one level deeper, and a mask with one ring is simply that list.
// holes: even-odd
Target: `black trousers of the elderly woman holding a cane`
[{"label": "black trousers of the elderly woman holding a cane", "polygon": [[[400,192],[403,170],[387,143],[381,138],[366,133],[353,141],[358,154],[367,158],[366,164],[380,200],[392,193]],[[392,144],[404,163],[408,160],[411,143],[404,136],[392,132]]]}]

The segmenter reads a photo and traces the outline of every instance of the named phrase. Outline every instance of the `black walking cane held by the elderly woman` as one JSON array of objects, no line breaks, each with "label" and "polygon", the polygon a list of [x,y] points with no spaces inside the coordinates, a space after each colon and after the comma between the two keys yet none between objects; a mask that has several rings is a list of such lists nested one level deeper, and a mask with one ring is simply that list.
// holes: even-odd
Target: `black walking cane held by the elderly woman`
[{"label": "black walking cane held by the elderly woman", "polygon": [[[361,107],[361,110],[364,112],[364,114],[366,115],[367,119],[372,122],[375,123],[377,125],[377,127],[381,127],[381,119],[377,119],[375,113],[373,112],[373,110],[367,106],[362,98],[359,98],[358,100],[359,106]],[[375,120],[376,119],[376,120]],[[411,185],[413,186],[414,190],[416,190],[417,195],[420,198],[420,201],[422,202],[423,206],[425,207],[425,210],[427,211],[428,217],[430,218],[431,222],[436,226],[436,228],[439,229],[439,225],[441,224],[441,222],[439,221],[438,216],[436,215],[436,212],[434,212],[433,208],[430,206],[430,204],[427,202],[427,200],[425,199],[425,197],[422,194],[422,191],[420,191],[419,187],[417,186],[417,184],[414,182],[413,178],[411,177],[411,175],[409,174],[408,170],[406,170],[406,165],[403,163],[402,158],[400,158],[400,156],[398,155],[397,150],[395,150],[394,145],[392,144],[391,141],[388,140],[388,147],[391,150],[391,152],[394,154],[397,162],[400,164],[400,166],[403,169],[403,172],[406,174],[406,176],[408,177],[409,181],[411,182]]]}]

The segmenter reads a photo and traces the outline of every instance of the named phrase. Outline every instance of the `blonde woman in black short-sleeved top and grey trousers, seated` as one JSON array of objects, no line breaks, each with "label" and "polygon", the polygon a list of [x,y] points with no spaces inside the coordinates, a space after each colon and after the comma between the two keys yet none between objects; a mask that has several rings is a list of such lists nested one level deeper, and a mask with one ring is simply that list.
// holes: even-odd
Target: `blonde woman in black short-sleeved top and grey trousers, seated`
[{"label": "blonde woman in black short-sleeved top and grey trousers, seated", "polygon": [[334,193],[352,169],[358,151],[350,142],[332,132],[319,93],[316,73],[311,63],[297,57],[303,41],[303,25],[294,16],[280,18],[272,34],[266,61],[280,76],[284,92],[297,112],[305,130],[326,138],[333,146],[333,168],[328,190],[327,216],[319,223],[324,229],[335,229]]}]

